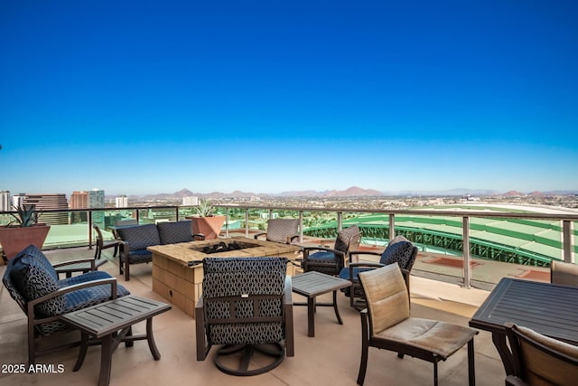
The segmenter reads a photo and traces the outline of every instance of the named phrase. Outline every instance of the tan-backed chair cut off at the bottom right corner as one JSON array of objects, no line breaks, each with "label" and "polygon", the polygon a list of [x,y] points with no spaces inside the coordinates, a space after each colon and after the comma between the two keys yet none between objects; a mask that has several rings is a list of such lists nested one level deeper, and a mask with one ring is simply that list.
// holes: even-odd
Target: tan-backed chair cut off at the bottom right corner
[{"label": "tan-backed chair cut off at the bottom right corner", "polygon": [[506,325],[506,334],[515,372],[508,375],[506,385],[577,384],[578,347],[513,324]]}]

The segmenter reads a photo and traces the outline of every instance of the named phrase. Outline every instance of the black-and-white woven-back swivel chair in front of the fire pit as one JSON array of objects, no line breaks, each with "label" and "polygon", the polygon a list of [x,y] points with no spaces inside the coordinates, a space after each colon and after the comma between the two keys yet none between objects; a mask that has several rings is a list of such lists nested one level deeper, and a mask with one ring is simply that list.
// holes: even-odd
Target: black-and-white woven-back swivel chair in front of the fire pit
[{"label": "black-and-white woven-back swivel chair in front of the fire pit", "polygon": [[[231,375],[268,372],[294,356],[291,278],[284,258],[206,258],[195,307],[197,361],[220,345],[215,364]],[[254,353],[265,354],[255,363]],[[238,359],[238,365],[230,362]],[[265,364],[264,364],[265,363]]]}]

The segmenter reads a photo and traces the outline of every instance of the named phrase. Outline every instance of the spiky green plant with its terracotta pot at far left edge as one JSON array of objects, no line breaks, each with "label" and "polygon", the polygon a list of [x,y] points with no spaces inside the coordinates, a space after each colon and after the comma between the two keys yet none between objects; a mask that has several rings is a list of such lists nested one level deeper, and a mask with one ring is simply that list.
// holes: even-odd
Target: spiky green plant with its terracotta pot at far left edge
[{"label": "spiky green plant with its terracotta pot at far left edge", "polygon": [[0,245],[4,259],[13,259],[30,244],[42,249],[51,229],[50,225],[38,223],[38,212],[34,205],[18,205],[14,209],[16,214],[10,213],[14,220],[0,227]]}]

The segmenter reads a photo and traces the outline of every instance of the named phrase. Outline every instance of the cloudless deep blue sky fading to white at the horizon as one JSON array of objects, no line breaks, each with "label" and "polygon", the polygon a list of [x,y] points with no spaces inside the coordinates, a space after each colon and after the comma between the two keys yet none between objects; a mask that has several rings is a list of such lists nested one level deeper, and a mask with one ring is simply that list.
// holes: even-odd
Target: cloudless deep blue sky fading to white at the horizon
[{"label": "cloudless deep blue sky fading to white at the horizon", "polygon": [[578,2],[0,2],[0,190],[578,190]]}]

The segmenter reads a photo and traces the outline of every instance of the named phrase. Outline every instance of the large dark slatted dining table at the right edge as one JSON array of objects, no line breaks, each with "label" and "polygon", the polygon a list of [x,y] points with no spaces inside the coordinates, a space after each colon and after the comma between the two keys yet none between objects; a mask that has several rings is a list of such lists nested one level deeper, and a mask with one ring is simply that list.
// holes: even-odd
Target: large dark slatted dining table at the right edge
[{"label": "large dark slatted dining table at the right edge", "polygon": [[470,325],[492,334],[509,375],[514,364],[506,343],[504,324],[508,322],[578,345],[578,287],[502,278],[491,291]]}]

